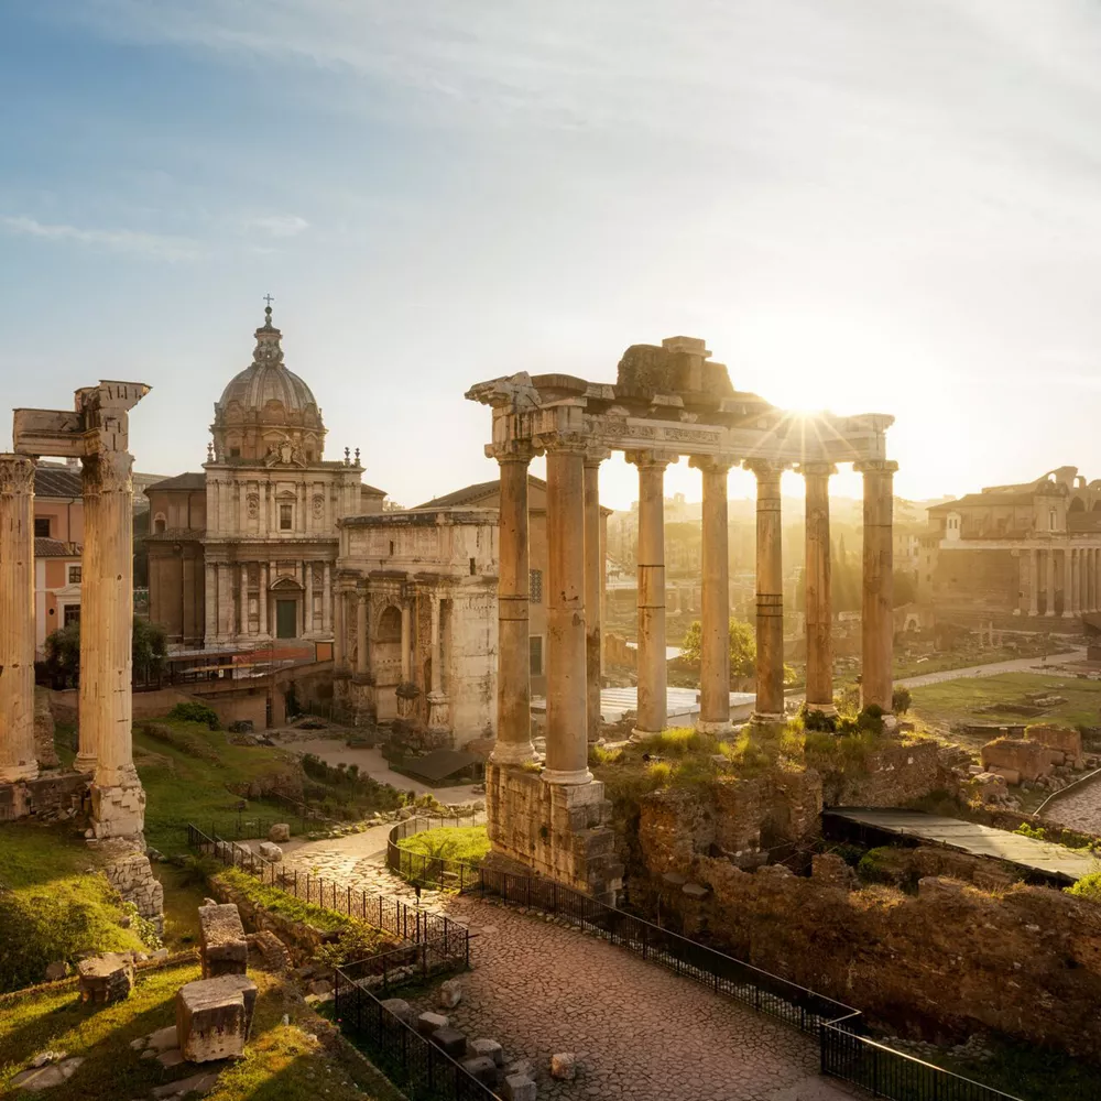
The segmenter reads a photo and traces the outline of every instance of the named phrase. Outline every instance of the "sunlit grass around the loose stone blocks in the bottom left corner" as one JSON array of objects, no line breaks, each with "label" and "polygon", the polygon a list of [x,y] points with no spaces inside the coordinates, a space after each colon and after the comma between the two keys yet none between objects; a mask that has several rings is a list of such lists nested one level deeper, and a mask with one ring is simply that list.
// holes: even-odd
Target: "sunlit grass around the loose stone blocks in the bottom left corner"
[{"label": "sunlit grass around the loose stone blocks in the bottom left corner", "polygon": [[[236,1064],[182,1064],[164,1069],[142,1059],[130,1042],[175,1022],[176,991],[199,978],[198,964],[146,971],[126,1002],[91,1006],[76,989],[0,1001],[0,1090],[46,1049],[83,1056],[63,1086],[43,1098],[119,1101],[148,1097],[155,1086],[222,1069],[208,1101],[395,1101],[397,1094],[372,1067],[325,1054],[310,1035],[309,1017],[288,1002],[277,979],[252,970],[259,986],[252,1039]],[[281,1023],[290,1013],[291,1023]],[[302,1023],[296,1022],[302,1018]]]}]

